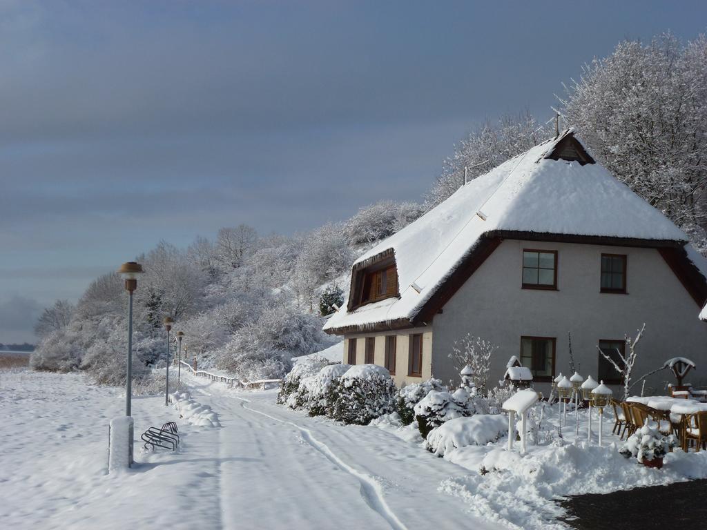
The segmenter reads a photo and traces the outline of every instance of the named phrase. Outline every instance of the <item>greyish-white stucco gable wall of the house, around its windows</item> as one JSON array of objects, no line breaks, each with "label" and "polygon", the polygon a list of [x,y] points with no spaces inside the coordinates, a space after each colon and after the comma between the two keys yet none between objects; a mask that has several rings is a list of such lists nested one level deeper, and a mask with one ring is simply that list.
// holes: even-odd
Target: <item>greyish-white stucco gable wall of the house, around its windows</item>
[{"label": "greyish-white stucco gable wall of the house, around its windows", "polygon": [[[558,290],[521,288],[523,248],[558,251]],[[628,256],[628,294],[600,293],[602,252]],[[506,240],[436,315],[433,377],[445,382],[459,378],[448,354],[467,332],[499,347],[491,385],[503,377],[508,358],[520,355],[521,336],[556,337],[555,370],[567,374],[571,332],[580,374],[596,378],[600,339],[635,336],[645,322],[634,379],[680,355],[697,363],[686,381],[706,385],[707,323],[697,319],[699,309],[655,249]],[[667,382],[674,383],[672,372],[658,372],[648,379],[646,391],[662,393]],[[535,386],[547,395],[549,384]],[[635,393],[640,391],[634,387]]]}]

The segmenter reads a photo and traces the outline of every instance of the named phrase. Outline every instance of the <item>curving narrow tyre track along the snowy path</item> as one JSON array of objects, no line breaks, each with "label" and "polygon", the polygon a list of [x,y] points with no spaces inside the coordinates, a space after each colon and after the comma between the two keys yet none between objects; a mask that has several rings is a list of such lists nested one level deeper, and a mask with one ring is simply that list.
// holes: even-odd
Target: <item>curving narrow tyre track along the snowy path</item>
[{"label": "curving narrow tyre track along the snowy path", "polygon": [[361,497],[363,497],[363,500],[366,501],[366,504],[368,505],[368,507],[370,507],[371,510],[377,512],[380,517],[385,519],[385,521],[390,524],[390,527],[392,529],[407,530],[407,526],[402,524],[400,519],[398,519],[395,513],[390,510],[390,507],[388,507],[387,502],[385,502],[385,498],[383,498],[383,491],[380,487],[380,483],[378,483],[375,478],[370,475],[367,475],[366,473],[361,473],[361,471],[357,471],[356,469],[349,466],[349,464],[346,464],[346,462],[337,457],[337,455],[334,454],[331,449],[329,449],[327,444],[317,440],[314,435],[312,435],[312,431],[310,431],[308,428],[297,425],[296,423],[293,423],[291,421],[275,418],[274,416],[270,416],[267,413],[257,411],[255,410],[255,408],[246,406],[245,403],[250,403],[249,399],[241,398],[238,396],[235,396],[235,398],[240,399],[241,406],[243,406],[243,408],[248,411],[255,412],[256,414],[260,414],[261,416],[265,416],[266,418],[270,418],[271,420],[275,420],[279,423],[292,425],[294,428],[298,429],[302,434],[303,440],[305,440],[305,442],[307,442],[313,449],[316,449],[318,452],[323,454],[330,462],[332,462],[332,464],[341,469],[341,471],[346,471],[346,473],[349,473],[349,475],[354,476],[354,478],[358,480],[358,482],[361,484]]}]

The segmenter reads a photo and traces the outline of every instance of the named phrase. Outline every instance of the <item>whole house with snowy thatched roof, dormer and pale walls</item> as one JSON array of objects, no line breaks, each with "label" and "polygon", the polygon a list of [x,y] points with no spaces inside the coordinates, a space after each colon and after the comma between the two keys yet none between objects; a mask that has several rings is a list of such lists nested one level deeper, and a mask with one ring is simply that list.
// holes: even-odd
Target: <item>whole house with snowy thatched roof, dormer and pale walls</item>
[{"label": "whole house with snowy thatched roof, dormer and pale walls", "polygon": [[[596,163],[573,131],[531,148],[455,194],[352,267],[348,300],[325,325],[344,363],[387,367],[397,384],[459,378],[466,334],[498,346],[537,389],[569,371],[621,384],[597,350],[624,348],[645,322],[635,375],[684,355],[704,370],[707,262],[670,220]],[[614,354],[612,354],[614,355]],[[614,355],[615,356],[615,355]],[[648,385],[670,379],[659,372]]]}]

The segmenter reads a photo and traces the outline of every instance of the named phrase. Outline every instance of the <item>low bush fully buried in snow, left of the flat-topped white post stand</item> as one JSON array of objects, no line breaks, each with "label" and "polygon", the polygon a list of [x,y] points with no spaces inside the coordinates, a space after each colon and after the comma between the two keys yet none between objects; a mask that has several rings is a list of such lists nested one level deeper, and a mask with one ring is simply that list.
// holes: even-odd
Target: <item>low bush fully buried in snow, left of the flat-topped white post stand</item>
[{"label": "low bush fully buried in snow, left of the flat-topped white post stand", "polygon": [[506,416],[476,414],[471,418],[454,418],[429,432],[425,447],[438,457],[445,452],[467,445],[486,445],[496,442],[508,429]]}]

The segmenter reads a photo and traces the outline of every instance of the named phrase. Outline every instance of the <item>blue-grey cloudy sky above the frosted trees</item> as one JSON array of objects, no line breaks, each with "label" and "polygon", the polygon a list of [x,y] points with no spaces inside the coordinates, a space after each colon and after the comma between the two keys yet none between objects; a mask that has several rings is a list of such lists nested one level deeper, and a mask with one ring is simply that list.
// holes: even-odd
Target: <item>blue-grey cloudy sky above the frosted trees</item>
[{"label": "blue-grey cloudy sky above the frosted trees", "polygon": [[417,200],[486,117],[549,119],[648,1],[0,0],[0,342],[159,240]]}]

